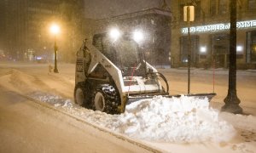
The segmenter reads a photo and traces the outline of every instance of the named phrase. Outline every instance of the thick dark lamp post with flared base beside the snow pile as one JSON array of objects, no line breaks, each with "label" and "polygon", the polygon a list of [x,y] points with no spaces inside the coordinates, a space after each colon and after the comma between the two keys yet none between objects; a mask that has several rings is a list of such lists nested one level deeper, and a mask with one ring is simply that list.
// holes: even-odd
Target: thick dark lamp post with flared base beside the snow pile
[{"label": "thick dark lamp post with flared base beside the snow pile", "polygon": [[229,90],[221,111],[241,114],[240,99],[236,94],[236,0],[230,0],[230,68]]}]

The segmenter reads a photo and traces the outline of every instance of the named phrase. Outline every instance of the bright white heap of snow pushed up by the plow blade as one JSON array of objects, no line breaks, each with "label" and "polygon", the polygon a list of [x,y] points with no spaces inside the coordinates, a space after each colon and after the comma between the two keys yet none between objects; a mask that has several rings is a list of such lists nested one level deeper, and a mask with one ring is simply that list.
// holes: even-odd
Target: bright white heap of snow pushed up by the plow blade
[{"label": "bright white heap of snow pushed up by the plow blade", "polygon": [[228,141],[235,129],[218,120],[218,111],[209,109],[207,99],[161,96],[126,107],[124,114],[107,127],[133,138],[165,142]]}]

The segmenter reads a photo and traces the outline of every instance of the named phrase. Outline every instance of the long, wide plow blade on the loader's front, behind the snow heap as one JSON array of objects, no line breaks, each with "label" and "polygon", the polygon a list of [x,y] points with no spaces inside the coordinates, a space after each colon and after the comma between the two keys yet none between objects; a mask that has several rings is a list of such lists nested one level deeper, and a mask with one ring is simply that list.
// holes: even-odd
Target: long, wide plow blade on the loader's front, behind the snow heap
[{"label": "long, wide plow blade on the loader's front, behind the snow heap", "polygon": [[188,97],[195,97],[197,99],[205,99],[207,98],[208,101],[210,102],[211,99],[216,95],[216,93],[208,93],[208,94],[176,94],[176,95],[167,95],[167,94],[153,94],[153,95],[132,95],[128,97],[128,102],[127,105],[137,101],[137,100],[142,100],[142,99],[153,99],[154,96],[158,96],[161,95],[162,97],[166,97],[166,98],[179,98],[182,95],[184,96],[188,96]]}]

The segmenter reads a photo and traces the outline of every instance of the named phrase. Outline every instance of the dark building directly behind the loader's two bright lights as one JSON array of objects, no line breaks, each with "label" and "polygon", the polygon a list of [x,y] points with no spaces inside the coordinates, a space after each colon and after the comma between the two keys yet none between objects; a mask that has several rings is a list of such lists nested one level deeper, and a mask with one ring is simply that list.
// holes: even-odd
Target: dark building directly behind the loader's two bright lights
[{"label": "dark building directly behind the loader's two bright lights", "polygon": [[139,45],[148,63],[160,67],[170,67],[171,17],[170,11],[149,8],[131,14],[96,20],[94,33],[106,32],[113,27],[126,32],[143,31],[144,40]]}]

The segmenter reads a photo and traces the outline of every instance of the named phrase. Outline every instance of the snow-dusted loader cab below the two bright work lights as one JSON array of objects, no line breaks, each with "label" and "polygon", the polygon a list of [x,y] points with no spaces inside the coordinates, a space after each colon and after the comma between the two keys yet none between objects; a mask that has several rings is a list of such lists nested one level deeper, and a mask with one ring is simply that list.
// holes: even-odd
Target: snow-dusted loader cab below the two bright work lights
[{"label": "snow-dusted loader cab below the two bright work lights", "polygon": [[130,33],[116,40],[109,37],[107,32],[96,34],[92,44],[122,71],[123,77],[131,76],[133,69],[135,76],[146,75],[143,54]]}]

